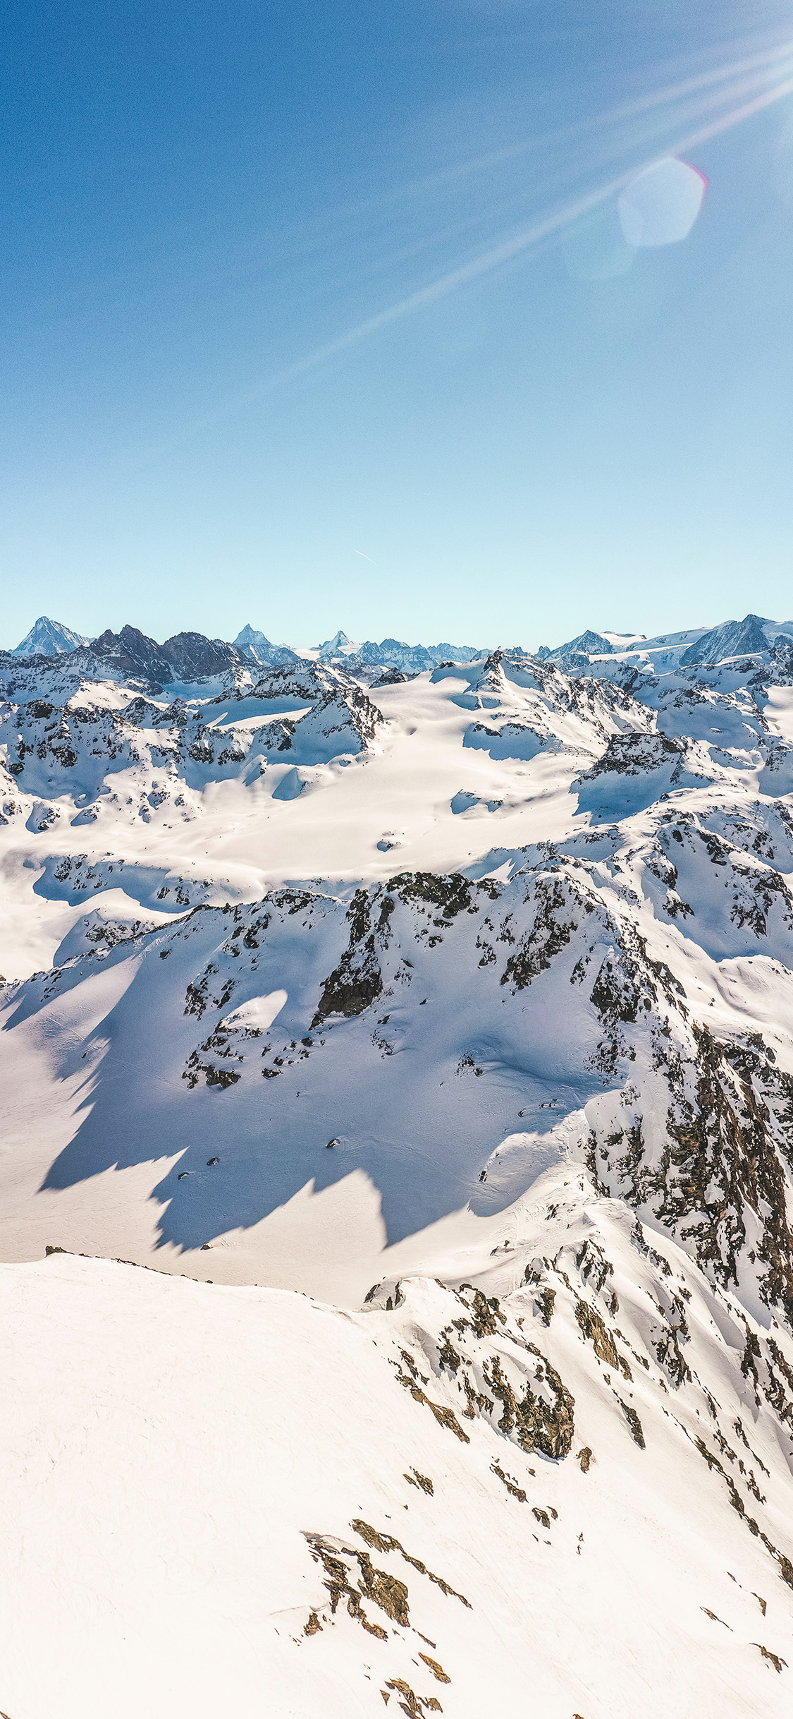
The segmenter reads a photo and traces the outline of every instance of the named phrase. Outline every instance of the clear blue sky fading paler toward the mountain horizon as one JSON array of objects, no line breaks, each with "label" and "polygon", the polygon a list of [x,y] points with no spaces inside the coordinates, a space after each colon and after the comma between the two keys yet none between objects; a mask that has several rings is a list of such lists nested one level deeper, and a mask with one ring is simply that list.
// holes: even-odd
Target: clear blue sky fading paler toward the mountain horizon
[{"label": "clear blue sky fading paler toward the mountain horizon", "polygon": [[[793,614],[791,0],[7,0],[0,62],[2,643]],[[589,278],[664,151],[690,236]]]}]

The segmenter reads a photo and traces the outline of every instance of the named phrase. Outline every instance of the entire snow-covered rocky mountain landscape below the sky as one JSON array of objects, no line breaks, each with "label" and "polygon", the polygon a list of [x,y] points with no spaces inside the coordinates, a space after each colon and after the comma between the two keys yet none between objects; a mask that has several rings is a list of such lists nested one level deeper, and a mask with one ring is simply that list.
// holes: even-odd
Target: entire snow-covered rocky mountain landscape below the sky
[{"label": "entire snow-covered rocky mountain landscape below the sky", "polygon": [[0,653],[9,1719],[790,1712],[784,627]]}]

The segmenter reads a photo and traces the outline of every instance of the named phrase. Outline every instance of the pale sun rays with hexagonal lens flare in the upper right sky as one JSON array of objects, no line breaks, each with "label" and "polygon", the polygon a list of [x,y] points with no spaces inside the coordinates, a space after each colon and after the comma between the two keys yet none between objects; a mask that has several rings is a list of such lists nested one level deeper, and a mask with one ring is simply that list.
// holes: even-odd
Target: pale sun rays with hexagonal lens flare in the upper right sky
[{"label": "pale sun rays with hexagonal lens flare in the upper right sky", "polygon": [[[151,444],[136,461],[124,461],[129,471],[161,457],[192,437],[254,406],[268,394],[321,370],[352,352],[364,340],[438,304],[479,280],[498,275],[518,258],[556,242],[568,272],[580,280],[609,280],[625,275],[640,249],[680,244],[700,213],[707,180],[685,156],[733,131],[779,101],[793,96],[793,40],[752,36],[740,53],[688,76],[680,69],[647,88],[630,101],[587,115],[577,124],[551,129],[544,139],[522,138],[518,143],[477,155],[450,170],[395,187],[374,206],[409,205],[414,196],[429,194],[448,184],[470,180],[498,170],[503,163],[530,155],[539,143],[551,160],[548,186],[532,196],[532,213],[493,236],[457,266],[446,268],[414,285],[254,385],[218,402],[180,431]],[[582,146],[585,144],[585,155]],[[664,153],[668,151],[668,153]],[[779,148],[778,179],[781,196],[793,203],[793,143],[788,132]],[[644,162],[644,165],[637,165]],[[537,179],[532,177],[537,193]],[[369,205],[355,205],[357,217]],[[407,249],[403,254],[414,254]]]}]

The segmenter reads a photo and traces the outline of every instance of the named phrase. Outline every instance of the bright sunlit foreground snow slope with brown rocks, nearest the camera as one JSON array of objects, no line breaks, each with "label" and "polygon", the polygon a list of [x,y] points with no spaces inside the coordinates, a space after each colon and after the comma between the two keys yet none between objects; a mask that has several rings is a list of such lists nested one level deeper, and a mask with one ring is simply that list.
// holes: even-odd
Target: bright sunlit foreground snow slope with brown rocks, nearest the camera
[{"label": "bright sunlit foreground snow slope with brown rocks, nearest the camera", "polygon": [[506,1227],[352,1317],[3,1267],[3,1710],[788,1714],[790,1336],[580,1172]]}]

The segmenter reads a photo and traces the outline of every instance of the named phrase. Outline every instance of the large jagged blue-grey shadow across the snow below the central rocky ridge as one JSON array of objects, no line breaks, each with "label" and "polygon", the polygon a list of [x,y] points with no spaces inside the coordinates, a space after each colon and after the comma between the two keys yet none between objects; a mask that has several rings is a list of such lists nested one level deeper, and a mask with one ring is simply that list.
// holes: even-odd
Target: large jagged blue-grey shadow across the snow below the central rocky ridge
[{"label": "large jagged blue-grey shadow across the snow below the central rocky ridge", "polygon": [[[237,1085],[189,1090],[182,1073],[197,1025],[182,1012],[184,990],[173,987],[172,959],[160,963],[154,949],[139,964],[115,957],[112,951],[88,987],[77,985],[76,973],[72,994],[65,975],[60,1007],[79,994],[88,1009],[91,999],[84,994],[93,985],[94,1019],[86,1037],[69,1038],[58,1074],[79,1080],[88,1064],[93,1076],[76,1093],[74,1136],[50,1165],[43,1188],[64,1190],[108,1169],[179,1155],[153,1188],[165,1205],[160,1245],[199,1248],[218,1234],[257,1224],[307,1184],[321,1193],[354,1171],[364,1171],[379,1191],[388,1243],[467,1202],[475,1212],[493,1214],[539,1174],[534,1160],[542,1141],[532,1148],[534,1157],[524,1153],[524,1164],[512,1150],[506,1179],[493,1160],[489,1186],[481,1183],[503,1141],[518,1129],[544,1136],[602,1090],[602,1081],[587,1080],[582,1088],[556,1083],[551,1092],[539,1069],[532,1071],[508,1045],[499,1054],[493,1040],[481,1040],[479,1052],[472,1040],[481,1062],[460,1076],[458,1045],[443,1049],[436,1038],[417,1035],[398,1055],[378,1057],[372,1080],[374,1011],[321,1028],[321,1043],[311,1033],[316,997],[304,1002],[299,988],[297,1002],[290,999],[266,1042],[275,1049],[278,1033],[288,1033],[299,1049],[300,1038],[311,1037],[304,1061],[276,1080],[263,1080],[254,1038],[245,1042]],[[184,957],[192,966],[194,952]],[[19,1021],[17,1012],[9,1026]],[[553,1109],[549,1098],[556,1100]],[[336,1143],[328,1148],[331,1138]],[[548,1150],[556,1155],[556,1147]]]}]

